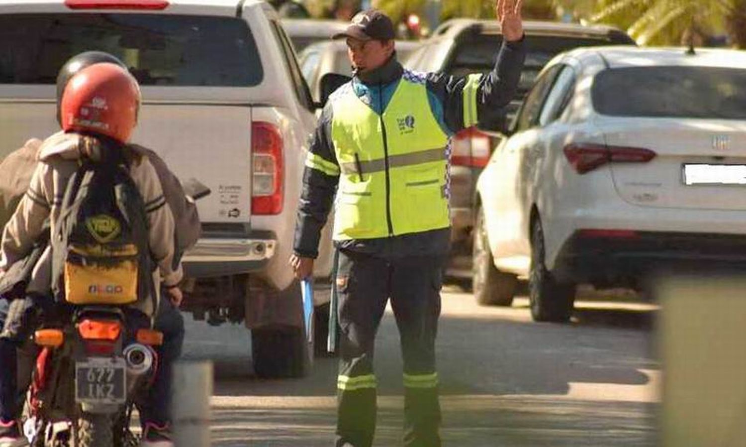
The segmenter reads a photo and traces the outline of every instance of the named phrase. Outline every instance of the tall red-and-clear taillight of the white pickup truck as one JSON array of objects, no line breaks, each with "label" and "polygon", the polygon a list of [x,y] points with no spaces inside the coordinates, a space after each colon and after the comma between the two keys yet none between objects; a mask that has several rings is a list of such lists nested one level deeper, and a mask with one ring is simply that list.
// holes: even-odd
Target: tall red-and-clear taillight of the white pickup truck
[{"label": "tall red-and-clear taillight of the white pickup truck", "polygon": [[269,122],[251,125],[253,185],[251,214],[274,215],[283,207],[283,141],[280,129]]}]

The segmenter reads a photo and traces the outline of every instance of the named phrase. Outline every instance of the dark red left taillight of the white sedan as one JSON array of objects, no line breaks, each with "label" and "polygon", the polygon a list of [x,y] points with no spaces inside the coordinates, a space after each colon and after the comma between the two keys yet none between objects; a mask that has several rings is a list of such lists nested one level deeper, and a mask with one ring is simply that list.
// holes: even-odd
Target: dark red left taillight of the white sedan
[{"label": "dark red left taillight of the white sedan", "polygon": [[648,163],[656,157],[650,149],[606,146],[597,143],[571,143],[565,157],[578,174],[585,174],[606,163]]}]

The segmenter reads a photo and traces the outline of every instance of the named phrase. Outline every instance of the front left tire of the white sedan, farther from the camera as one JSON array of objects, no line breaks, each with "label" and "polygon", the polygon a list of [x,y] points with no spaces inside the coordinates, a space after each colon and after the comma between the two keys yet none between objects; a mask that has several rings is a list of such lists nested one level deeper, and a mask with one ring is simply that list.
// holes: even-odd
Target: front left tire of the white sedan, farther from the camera
[{"label": "front left tire of the white sedan, farther from the camera", "polygon": [[504,273],[495,267],[495,259],[489,248],[484,210],[477,211],[477,225],[474,227],[474,248],[471,251],[474,278],[472,287],[477,303],[486,305],[510,306],[513,304],[518,277]]}]

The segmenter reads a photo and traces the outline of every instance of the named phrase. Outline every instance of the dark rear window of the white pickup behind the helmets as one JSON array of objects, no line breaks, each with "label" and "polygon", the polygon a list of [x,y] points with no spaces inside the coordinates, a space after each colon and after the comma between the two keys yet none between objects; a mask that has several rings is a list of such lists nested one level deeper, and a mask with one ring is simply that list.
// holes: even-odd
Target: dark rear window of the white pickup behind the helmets
[{"label": "dark rear window of the white pickup behind the helmets", "polygon": [[82,51],[124,61],[141,85],[250,87],[263,70],[246,22],[168,14],[0,16],[0,84],[54,84]]}]

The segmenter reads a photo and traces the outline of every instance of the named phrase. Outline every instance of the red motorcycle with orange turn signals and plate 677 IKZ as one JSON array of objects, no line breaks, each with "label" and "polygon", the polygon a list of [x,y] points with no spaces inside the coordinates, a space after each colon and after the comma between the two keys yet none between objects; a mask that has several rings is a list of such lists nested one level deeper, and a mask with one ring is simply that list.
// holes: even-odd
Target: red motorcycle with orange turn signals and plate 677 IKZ
[{"label": "red motorcycle with orange turn signals and plate 677 IKZ", "polygon": [[[157,371],[163,334],[128,334],[121,307],[72,307],[66,323],[35,332],[40,348],[25,402],[33,447],[135,447],[134,402]],[[133,337],[134,336],[134,337]]]}]

